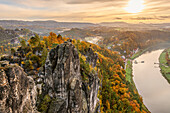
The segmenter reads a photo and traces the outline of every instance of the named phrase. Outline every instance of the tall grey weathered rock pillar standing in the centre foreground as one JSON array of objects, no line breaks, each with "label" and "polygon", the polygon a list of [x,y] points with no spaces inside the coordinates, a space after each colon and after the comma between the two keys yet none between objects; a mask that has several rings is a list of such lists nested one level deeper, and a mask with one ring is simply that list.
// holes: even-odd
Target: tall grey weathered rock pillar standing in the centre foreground
[{"label": "tall grey weathered rock pillar standing in the centre foreground", "polygon": [[[90,55],[86,57],[89,59]],[[45,64],[43,91],[51,98],[55,98],[49,105],[48,112],[97,112],[99,110],[97,73],[89,73],[88,79],[89,82],[85,83],[81,78],[79,55],[71,42],[65,42],[52,49]]]}]

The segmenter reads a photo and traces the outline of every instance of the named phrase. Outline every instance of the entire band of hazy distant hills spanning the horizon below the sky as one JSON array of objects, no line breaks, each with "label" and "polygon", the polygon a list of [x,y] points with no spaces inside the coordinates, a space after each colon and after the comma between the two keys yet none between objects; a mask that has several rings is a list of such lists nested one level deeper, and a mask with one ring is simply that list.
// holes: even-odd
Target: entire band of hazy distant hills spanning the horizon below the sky
[{"label": "entire band of hazy distant hills spanning the horizon below the sky", "polygon": [[87,22],[57,22],[57,21],[21,21],[21,20],[0,20],[0,26],[6,29],[26,28],[33,32],[47,36],[49,32],[61,34],[72,28],[89,28],[89,27],[116,27],[124,31],[142,31],[142,30],[160,30],[170,28],[170,23],[126,23],[126,22],[102,22],[98,24]]}]

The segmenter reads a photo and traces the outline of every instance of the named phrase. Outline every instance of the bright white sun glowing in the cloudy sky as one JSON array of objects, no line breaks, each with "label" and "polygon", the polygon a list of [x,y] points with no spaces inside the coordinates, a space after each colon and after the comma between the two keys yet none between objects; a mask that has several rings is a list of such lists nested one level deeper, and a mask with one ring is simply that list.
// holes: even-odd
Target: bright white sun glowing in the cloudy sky
[{"label": "bright white sun glowing in the cloudy sky", "polygon": [[139,13],[145,8],[144,0],[130,0],[124,8],[128,13]]}]

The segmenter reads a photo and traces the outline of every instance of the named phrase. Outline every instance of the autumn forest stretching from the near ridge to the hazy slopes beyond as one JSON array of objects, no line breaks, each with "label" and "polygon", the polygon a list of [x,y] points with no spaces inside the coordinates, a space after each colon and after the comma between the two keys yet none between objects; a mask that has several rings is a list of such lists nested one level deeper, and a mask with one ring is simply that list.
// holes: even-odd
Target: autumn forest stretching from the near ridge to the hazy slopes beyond
[{"label": "autumn forest stretching from the near ridge to the hazy slopes beyond", "polygon": [[[161,42],[169,42],[168,36],[170,36],[170,32],[117,31],[110,29],[107,30],[106,36],[101,29],[95,29],[91,32],[86,29],[86,31],[81,30],[80,33],[78,28],[72,30],[72,34],[64,35],[64,37],[53,32],[50,32],[49,36],[42,37],[34,34],[30,37],[28,32],[24,38],[18,38],[19,43],[11,44],[9,42],[11,40],[8,40],[8,43],[4,43],[1,46],[0,52],[1,55],[10,53],[11,56],[10,58],[2,56],[1,60],[9,59],[10,62],[19,64],[29,76],[33,76],[35,80],[38,80],[39,73],[44,70],[48,52],[65,41],[71,40],[79,52],[83,82],[89,83],[89,73],[97,73],[100,78],[101,87],[98,92],[98,98],[100,99],[100,111],[102,113],[148,113],[149,111],[143,104],[142,97],[131,79],[132,73],[130,70],[124,69],[124,60],[132,57],[138,49],[143,50]],[[79,34],[74,35],[74,33]],[[98,45],[86,42],[82,38],[95,36],[96,34],[103,37],[103,39],[97,42]],[[77,38],[72,39],[76,35]],[[94,51],[98,55],[96,67],[89,64],[86,57],[84,57],[89,50]],[[125,58],[122,58],[122,56],[125,56]],[[128,65],[130,66],[130,64]],[[43,106],[46,106],[47,103],[40,103],[38,109],[46,111],[45,108],[47,107],[43,108]]]}]

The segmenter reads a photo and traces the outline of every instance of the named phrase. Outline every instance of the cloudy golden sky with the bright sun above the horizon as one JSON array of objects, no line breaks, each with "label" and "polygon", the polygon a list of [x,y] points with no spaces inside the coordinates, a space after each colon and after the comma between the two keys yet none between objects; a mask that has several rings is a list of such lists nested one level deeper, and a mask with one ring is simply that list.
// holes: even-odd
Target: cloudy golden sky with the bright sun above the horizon
[{"label": "cloudy golden sky with the bright sun above the horizon", "polygon": [[170,0],[0,0],[0,20],[170,22]]}]

